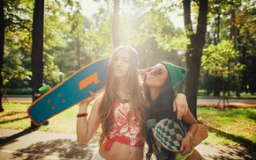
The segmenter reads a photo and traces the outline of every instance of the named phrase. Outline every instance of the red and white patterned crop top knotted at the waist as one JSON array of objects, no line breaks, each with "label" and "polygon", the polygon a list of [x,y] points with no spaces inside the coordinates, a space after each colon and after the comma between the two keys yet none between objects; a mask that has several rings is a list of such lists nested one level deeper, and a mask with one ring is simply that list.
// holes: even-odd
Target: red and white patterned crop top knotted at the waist
[{"label": "red and white patterned crop top knotted at the waist", "polygon": [[143,146],[145,141],[141,140],[140,127],[136,123],[136,116],[132,114],[131,120],[127,122],[127,114],[130,110],[129,102],[122,103],[115,100],[114,113],[110,116],[110,134],[105,149],[110,149],[112,142],[117,141],[130,146]]}]

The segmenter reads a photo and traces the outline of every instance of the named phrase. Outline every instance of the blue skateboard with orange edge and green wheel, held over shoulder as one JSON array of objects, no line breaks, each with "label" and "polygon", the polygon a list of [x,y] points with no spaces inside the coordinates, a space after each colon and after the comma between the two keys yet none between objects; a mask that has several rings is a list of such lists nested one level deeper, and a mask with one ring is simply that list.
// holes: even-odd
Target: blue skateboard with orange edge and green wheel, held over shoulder
[{"label": "blue skateboard with orange edge and green wheel, held over shoulder", "polygon": [[32,122],[39,126],[49,118],[63,112],[72,105],[90,96],[88,91],[98,92],[104,86],[110,57],[99,59],[79,69],[50,89],[44,85],[39,89],[41,97],[28,106],[27,113]]}]

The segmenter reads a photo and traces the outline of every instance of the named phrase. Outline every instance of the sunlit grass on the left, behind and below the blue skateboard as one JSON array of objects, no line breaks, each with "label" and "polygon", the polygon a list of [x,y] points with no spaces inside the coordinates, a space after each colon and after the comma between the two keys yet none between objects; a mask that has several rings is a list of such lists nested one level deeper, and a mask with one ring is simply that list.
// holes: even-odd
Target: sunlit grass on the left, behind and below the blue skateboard
[{"label": "sunlit grass on the left, behind and below the blue skateboard", "polygon": [[[31,127],[31,120],[26,112],[29,105],[30,104],[17,103],[3,104],[4,113],[0,113],[0,128],[26,129]],[[88,111],[90,110],[91,105],[88,107]],[[43,132],[75,134],[78,112],[79,106],[74,105],[64,112],[50,118],[48,120],[49,125],[41,125],[37,130]],[[98,132],[100,132],[100,130]],[[100,133],[97,133],[97,135],[100,135]]]}]

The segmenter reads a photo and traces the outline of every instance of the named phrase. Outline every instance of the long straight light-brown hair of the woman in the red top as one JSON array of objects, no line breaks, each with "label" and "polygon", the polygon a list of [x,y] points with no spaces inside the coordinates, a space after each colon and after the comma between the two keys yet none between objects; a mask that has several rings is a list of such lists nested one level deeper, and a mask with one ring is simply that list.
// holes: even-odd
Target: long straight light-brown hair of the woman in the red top
[{"label": "long straight light-brown hair of the woman in the red top", "polygon": [[[109,115],[113,113],[113,107],[115,99],[117,98],[117,79],[113,73],[113,66],[115,62],[115,56],[117,51],[120,49],[126,49],[129,52],[129,69],[125,79],[125,85],[130,93],[130,106],[131,111],[127,115],[127,120],[130,120],[133,113],[136,115],[136,120],[139,122],[139,127],[141,127],[141,137],[145,140],[146,132],[144,129],[145,121],[147,120],[147,103],[146,98],[143,97],[141,91],[141,84],[139,84],[139,73],[137,69],[137,57],[135,56],[134,49],[129,46],[120,46],[114,49],[109,62],[109,68],[107,72],[107,77],[105,81],[105,91],[102,97],[101,104],[99,106],[99,115],[102,124],[102,135],[100,138],[100,146],[109,136],[110,121]],[[136,51],[135,51],[136,52]]]}]

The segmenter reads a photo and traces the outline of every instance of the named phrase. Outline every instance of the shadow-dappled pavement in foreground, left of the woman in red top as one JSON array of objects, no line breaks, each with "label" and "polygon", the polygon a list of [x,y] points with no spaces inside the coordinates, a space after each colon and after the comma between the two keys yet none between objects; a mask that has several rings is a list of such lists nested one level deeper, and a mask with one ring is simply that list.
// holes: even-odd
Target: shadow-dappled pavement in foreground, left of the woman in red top
[{"label": "shadow-dappled pavement in foreground, left of the woman in red top", "polygon": [[0,129],[0,159],[86,159],[97,149],[94,137],[84,148],[76,143],[75,134],[31,132]]}]

